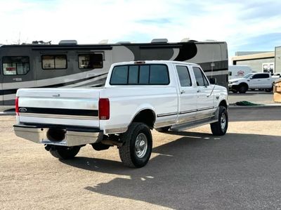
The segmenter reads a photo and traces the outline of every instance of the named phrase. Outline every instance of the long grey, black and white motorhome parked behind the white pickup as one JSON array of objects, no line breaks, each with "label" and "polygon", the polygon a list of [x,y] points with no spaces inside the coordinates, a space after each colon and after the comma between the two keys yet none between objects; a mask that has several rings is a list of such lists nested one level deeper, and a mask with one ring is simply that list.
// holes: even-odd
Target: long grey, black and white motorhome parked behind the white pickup
[{"label": "long grey, black and white motorhome parked behind the white pickup", "polygon": [[18,88],[98,87],[112,63],[177,60],[201,65],[207,77],[228,87],[228,48],[220,41],[169,43],[21,44],[0,46],[0,105],[13,105]]}]

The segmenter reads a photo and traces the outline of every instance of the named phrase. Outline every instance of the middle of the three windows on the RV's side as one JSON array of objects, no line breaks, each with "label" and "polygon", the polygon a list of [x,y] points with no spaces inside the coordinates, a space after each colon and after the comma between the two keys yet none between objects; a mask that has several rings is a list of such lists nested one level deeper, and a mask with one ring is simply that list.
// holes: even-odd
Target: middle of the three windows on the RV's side
[{"label": "middle of the three windows on the RV's side", "polygon": [[42,69],[62,70],[66,68],[66,55],[42,55]]}]

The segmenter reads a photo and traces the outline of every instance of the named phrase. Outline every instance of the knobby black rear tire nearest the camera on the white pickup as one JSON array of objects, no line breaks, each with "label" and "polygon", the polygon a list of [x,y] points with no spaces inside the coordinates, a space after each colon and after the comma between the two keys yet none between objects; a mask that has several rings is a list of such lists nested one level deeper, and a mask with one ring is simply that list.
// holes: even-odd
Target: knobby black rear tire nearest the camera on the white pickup
[{"label": "knobby black rear tire nearest the camera on the white pickup", "polygon": [[[139,148],[136,143],[140,141],[140,136],[146,138],[147,145],[142,157],[138,157],[136,151]],[[141,168],[148,163],[152,152],[152,136],[146,124],[133,122],[129,129],[122,134],[120,140],[122,140],[123,145],[119,147],[119,156],[125,166]]]}]

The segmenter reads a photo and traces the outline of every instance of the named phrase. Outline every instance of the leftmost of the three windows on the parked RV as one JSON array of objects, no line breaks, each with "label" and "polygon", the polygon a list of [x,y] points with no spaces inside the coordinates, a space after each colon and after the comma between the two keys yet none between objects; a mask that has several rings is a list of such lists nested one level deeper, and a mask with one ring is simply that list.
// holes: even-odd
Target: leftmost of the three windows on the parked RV
[{"label": "leftmost of the three windows on the parked RV", "polygon": [[5,56],[2,60],[4,75],[24,75],[30,71],[30,57]]}]

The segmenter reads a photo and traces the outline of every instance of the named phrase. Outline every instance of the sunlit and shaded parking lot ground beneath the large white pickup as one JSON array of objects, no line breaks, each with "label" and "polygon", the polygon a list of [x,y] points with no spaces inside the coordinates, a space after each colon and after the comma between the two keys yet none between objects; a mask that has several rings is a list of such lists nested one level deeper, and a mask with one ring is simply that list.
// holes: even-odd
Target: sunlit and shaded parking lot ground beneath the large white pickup
[{"label": "sunlit and shaded parking lot ground beneath the large white pickup", "polygon": [[229,110],[226,136],[209,126],[153,131],[148,165],[129,169],[118,150],[82,147],[59,161],[13,134],[0,117],[0,209],[280,209],[281,108]]}]

